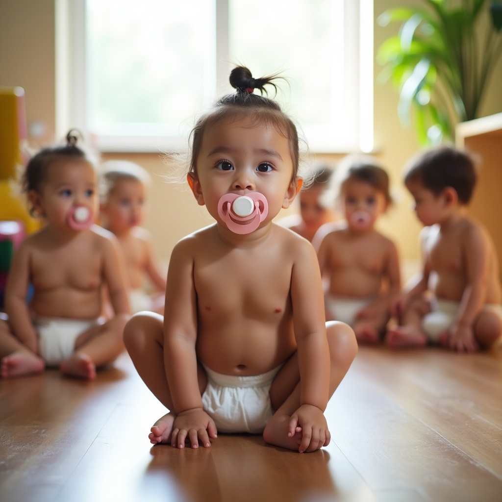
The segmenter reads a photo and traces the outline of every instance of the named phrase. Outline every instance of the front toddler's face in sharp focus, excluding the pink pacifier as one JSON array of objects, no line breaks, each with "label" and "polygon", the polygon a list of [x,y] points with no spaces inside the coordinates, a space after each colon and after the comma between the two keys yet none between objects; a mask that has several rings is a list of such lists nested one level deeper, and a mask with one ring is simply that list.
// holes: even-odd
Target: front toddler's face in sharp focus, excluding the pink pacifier
[{"label": "front toddler's face in sharp focus, excluding the pink pacifier", "polygon": [[272,124],[222,121],[204,132],[192,190],[220,223],[217,206],[223,195],[260,192],[269,206],[265,221],[270,221],[296,195],[292,174],[288,139]]}]

